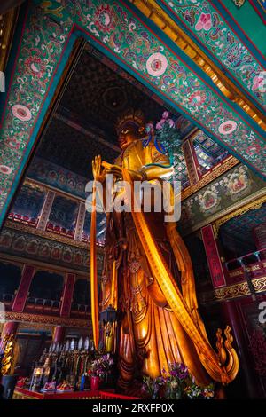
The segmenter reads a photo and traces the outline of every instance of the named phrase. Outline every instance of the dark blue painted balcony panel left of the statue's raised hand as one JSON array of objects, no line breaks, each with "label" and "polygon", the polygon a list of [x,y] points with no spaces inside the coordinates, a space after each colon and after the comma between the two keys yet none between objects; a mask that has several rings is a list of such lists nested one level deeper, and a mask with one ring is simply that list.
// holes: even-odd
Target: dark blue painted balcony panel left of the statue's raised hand
[{"label": "dark blue painted balcony panel left of the statue's raised hand", "polygon": [[27,171],[27,177],[85,198],[85,186],[88,180],[50,161],[35,157]]}]

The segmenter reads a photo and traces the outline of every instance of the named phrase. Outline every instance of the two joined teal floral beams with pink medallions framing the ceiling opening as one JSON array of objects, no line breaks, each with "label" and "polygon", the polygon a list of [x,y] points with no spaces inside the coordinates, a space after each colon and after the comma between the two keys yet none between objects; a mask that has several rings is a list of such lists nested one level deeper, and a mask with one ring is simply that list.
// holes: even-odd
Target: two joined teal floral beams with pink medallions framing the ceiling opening
[{"label": "two joined teal floral beams with pink medallions framing the ceiling opening", "polygon": [[[237,107],[232,107],[221,92],[209,84],[208,77],[200,72],[200,68],[194,67],[183,51],[170,41],[167,47],[122,1],[107,4],[100,0],[85,4],[74,1],[59,5],[56,1],[35,0],[29,3],[24,23],[3,113],[2,220],[66,65],[74,43],[74,35],[71,36],[74,24],[90,42],[143,80],[177,111],[187,114],[207,134],[232,148],[240,158],[265,175],[265,143],[261,130],[250,127],[254,123],[246,122],[249,118],[239,114]],[[149,22],[149,26],[153,27],[153,23]],[[254,77],[253,83],[257,91],[259,78],[255,83]],[[49,98],[46,96],[48,91]]]}]

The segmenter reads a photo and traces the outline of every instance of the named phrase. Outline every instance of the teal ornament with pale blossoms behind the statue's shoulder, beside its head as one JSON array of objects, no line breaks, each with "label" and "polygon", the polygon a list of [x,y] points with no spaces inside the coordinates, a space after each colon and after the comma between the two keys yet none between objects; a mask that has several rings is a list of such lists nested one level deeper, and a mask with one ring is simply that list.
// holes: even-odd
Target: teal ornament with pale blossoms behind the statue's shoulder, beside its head
[{"label": "teal ornament with pale blossoms behind the statue's shoulder, beside its head", "polygon": [[182,139],[180,131],[176,126],[176,121],[169,116],[169,112],[163,112],[160,122],[156,123],[155,130],[152,122],[146,124],[145,130],[149,138],[145,146],[154,137],[154,145],[160,153],[168,153],[170,163],[172,164],[175,152],[181,145]]}]

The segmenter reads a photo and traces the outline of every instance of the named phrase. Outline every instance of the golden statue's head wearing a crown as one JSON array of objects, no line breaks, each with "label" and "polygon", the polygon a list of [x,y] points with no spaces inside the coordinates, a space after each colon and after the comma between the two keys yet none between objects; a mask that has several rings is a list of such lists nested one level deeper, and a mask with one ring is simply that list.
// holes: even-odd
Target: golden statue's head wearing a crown
[{"label": "golden statue's head wearing a crown", "polygon": [[121,149],[142,138],[145,132],[145,118],[140,110],[129,109],[116,123],[118,142]]}]

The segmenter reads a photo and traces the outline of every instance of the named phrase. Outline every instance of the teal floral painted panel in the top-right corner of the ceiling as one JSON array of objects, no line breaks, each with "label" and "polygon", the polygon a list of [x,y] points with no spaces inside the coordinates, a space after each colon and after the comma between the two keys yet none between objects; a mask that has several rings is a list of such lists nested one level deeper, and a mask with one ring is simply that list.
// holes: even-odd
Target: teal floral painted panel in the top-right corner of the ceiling
[{"label": "teal floral painted panel in the top-right corner of the ceiling", "polygon": [[[200,45],[232,75],[257,103],[265,106],[265,95],[261,86],[264,83],[264,68],[246,45],[229,27],[223,16],[210,1],[162,0],[174,19],[184,24]],[[266,31],[264,32],[266,35]],[[264,91],[265,92],[265,91]]]}]

